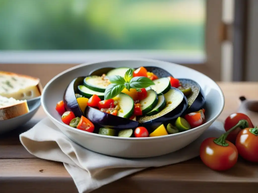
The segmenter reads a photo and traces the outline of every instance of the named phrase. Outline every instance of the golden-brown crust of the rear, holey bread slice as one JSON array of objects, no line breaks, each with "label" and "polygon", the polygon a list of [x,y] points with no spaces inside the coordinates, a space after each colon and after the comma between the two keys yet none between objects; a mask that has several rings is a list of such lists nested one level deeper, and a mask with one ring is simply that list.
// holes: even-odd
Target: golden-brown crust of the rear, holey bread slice
[{"label": "golden-brown crust of the rear, holey bread slice", "polygon": [[[34,80],[35,82],[37,82],[36,85],[31,85],[29,87],[26,87],[24,89],[20,89],[18,92],[13,92],[13,93],[0,93],[0,95],[5,96],[7,98],[14,98],[16,100],[28,100],[31,98],[35,98],[38,96],[41,96],[42,94],[42,90],[43,87],[40,83],[39,78],[33,77],[33,76],[28,76],[28,75],[23,75],[23,74],[17,74],[17,73],[13,73],[13,72],[5,72],[5,71],[0,71],[0,75],[9,75],[9,76],[19,76],[19,77],[24,77],[27,79],[31,79]],[[27,92],[31,91],[32,92],[32,96],[26,95]],[[25,94],[23,94],[25,93]]]}]

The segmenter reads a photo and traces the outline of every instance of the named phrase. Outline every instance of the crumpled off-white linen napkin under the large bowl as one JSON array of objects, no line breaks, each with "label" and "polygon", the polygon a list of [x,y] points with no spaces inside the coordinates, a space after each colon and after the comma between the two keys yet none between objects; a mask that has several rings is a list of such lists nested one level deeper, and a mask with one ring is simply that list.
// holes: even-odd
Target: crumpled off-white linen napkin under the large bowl
[{"label": "crumpled off-white linen napkin under the large bowl", "polygon": [[141,159],[123,159],[87,150],[72,142],[49,118],[20,134],[20,141],[36,157],[63,162],[79,193],[87,193],[148,167],[179,163],[197,157],[204,139],[219,137],[224,132],[223,124],[215,121],[187,147],[167,155]]}]

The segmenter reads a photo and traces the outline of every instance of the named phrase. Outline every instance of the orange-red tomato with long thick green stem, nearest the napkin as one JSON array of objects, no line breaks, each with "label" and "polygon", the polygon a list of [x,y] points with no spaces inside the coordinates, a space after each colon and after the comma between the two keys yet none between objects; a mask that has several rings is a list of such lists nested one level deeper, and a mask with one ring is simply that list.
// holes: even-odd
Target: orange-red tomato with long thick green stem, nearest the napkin
[{"label": "orange-red tomato with long thick green stem, nearest the napkin", "polygon": [[228,134],[238,127],[245,128],[248,125],[246,120],[240,120],[219,138],[210,137],[205,139],[200,146],[200,158],[202,162],[213,170],[223,171],[232,168],[238,159],[236,146],[227,141]]}]

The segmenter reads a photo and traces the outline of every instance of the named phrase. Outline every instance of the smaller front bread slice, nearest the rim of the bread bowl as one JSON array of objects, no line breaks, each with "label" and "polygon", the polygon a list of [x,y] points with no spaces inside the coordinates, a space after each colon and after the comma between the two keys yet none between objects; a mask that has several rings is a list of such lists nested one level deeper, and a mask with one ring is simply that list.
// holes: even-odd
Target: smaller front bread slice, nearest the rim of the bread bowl
[{"label": "smaller front bread slice, nearest the rim of the bread bowl", "polygon": [[0,121],[18,117],[28,112],[29,108],[26,100],[20,101],[0,95]]}]

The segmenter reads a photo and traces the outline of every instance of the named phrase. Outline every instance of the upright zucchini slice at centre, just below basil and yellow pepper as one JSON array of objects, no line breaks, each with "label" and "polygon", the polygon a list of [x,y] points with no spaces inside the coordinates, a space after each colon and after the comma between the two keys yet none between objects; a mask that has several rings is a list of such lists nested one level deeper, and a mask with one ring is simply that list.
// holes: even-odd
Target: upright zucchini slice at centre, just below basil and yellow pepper
[{"label": "upright zucchini slice at centre, just below basil and yellow pepper", "polygon": [[133,115],[134,111],[134,101],[128,94],[119,93],[117,95],[119,98],[119,107],[120,109],[117,112],[118,117],[130,118]]}]

